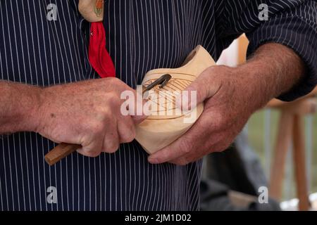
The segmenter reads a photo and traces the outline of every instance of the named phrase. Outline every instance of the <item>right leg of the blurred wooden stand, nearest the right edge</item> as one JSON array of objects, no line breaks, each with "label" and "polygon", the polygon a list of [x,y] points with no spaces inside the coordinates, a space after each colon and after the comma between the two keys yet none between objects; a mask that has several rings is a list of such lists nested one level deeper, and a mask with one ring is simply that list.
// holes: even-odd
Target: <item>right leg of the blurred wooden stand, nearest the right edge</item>
[{"label": "right leg of the blurred wooden stand, nearest the right edge", "polygon": [[302,117],[294,115],[293,126],[293,154],[294,172],[297,184],[297,197],[299,198],[299,210],[309,210],[309,197],[306,179],[304,129]]}]

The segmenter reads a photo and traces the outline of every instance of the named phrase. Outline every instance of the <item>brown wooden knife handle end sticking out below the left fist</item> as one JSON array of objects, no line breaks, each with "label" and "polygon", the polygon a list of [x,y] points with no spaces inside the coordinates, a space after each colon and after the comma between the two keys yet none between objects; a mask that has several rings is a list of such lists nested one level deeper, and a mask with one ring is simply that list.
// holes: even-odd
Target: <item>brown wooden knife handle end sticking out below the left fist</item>
[{"label": "brown wooden knife handle end sticking out below the left fist", "polygon": [[45,161],[51,166],[59,160],[66,158],[70,153],[75,152],[78,148],[82,148],[80,145],[70,143],[60,143],[45,155]]}]

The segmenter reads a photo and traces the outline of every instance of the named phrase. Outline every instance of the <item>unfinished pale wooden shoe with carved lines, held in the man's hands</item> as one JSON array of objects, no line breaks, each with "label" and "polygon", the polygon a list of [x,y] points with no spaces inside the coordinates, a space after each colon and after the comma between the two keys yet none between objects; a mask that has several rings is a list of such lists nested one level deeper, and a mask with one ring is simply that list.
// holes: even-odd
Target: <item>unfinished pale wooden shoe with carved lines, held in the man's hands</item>
[{"label": "unfinished pale wooden shoe with carved lines, held in the man's hands", "polygon": [[[160,102],[159,98],[149,99],[151,103],[156,104],[155,113],[159,115],[150,115],[141,124],[137,125],[136,128],[137,134],[135,139],[147,153],[155,153],[185,134],[204,110],[204,105],[201,103],[190,113],[177,114],[175,110],[175,96],[164,94],[164,91],[175,93],[175,91],[184,90],[201,72],[215,64],[210,54],[202,46],[197,46],[196,49],[189,53],[182,67],[176,69],[156,69],[147,72],[142,82],[142,85],[145,87],[156,81],[156,79],[159,79],[162,75],[171,75],[171,79],[166,86],[163,88],[156,86],[153,89],[154,92],[158,93],[157,96],[159,98],[165,98],[166,101]],[[162,91],[163,94],[161,94]],[[161,112],[162,110],[163,112]],[[193,112],[196,112],[194,120],[189,120],[188,117],[191,117]]]}]

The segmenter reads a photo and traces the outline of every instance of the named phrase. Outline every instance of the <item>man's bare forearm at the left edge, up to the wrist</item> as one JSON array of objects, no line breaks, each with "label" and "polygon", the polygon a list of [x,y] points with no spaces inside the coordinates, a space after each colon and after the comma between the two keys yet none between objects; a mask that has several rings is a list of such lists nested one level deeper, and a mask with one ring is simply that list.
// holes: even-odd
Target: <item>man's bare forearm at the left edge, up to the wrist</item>
[{"label": "man's bare forearm at the left edge, up to the wrist", "polygon": [[0,134],[35,131],[40,88],[0,82]]}]

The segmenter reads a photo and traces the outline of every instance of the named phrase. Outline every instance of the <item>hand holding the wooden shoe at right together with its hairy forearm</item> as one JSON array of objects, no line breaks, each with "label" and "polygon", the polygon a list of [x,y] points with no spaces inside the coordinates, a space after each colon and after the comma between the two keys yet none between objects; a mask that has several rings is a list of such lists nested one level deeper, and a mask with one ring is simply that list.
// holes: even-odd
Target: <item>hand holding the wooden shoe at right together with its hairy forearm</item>
[{"label": "hand holding the wooden shoe at right together with its hairy forearm", "polygon": [[303,74],[302,60],[280,44],[261,46],[238,68],[208,68],[187,87],[197,91],[197,104],[205,103],[199,120],[180,139],[150,155],[149,162],[186,165],[225,150],[255,110],[288,91]]}]

